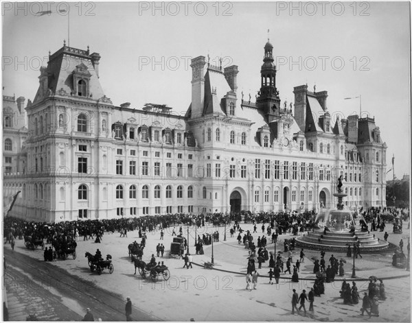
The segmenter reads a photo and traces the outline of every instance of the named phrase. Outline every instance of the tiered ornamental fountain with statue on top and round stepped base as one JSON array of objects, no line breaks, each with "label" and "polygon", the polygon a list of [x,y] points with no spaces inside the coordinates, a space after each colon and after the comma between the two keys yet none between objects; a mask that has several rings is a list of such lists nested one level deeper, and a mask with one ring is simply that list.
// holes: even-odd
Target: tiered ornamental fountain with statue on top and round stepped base
[{"label": "tiered ornamental fountain with statue on top and round stepped base", "polygon": [[387,241],[381,241],[369,231],[356,228],[352,212],[343,204],[343,198],[347,194],[343,193],[342,186],[342,177],[339,177],[337,193],[333,194],[335,198],[338,198],[336,208],[319,212],[315,219],[315,224],[319,224],[319,221],[323,222],[323,228],[317,226],[303,237],[297,237],[297,247],[346,252],[347,246],[352,247],[356,243],[361,248],[361,253],[387,250],[389,248]]}]

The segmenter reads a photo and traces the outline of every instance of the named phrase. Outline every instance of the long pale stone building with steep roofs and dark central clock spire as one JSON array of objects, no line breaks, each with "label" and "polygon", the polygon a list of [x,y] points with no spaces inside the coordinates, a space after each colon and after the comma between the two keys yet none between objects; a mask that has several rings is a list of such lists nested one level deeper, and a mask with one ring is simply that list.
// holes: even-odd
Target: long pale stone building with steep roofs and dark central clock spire
[{"label": "long pale stone building with steep roofs and dark central clock spire", "polygon": [[387,145],[374,118],[332,121],[328,93],[307,85],[294,88],[294,105],[282,103],[272,51],[266,43],[255,102],[239,93],[236,65],[192,59],[183,116],[165,105],[114,106],[100,86],[100,54],[63,46],[25,109],[24,97],[3,96],[3,192],[20,191],[10,215],[319,211],[334,207],[339,176],[348,207],[386,206]]}]

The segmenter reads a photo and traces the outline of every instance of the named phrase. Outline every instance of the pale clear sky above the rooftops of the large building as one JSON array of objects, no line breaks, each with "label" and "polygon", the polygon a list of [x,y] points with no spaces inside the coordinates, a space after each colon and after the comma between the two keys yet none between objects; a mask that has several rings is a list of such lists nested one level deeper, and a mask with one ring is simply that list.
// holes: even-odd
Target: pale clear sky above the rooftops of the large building
[{"label": "pale clear sky above the rooftops of the large building", "polygon": [[190,59],[208,55],[236,64],[239,97],[255,101],[269,38],[282,102],[308,84],[328,91],[333,120],[361,108],[388,145],[387,170],[394,155],[402,178],[411,169],[409,23],[408,2],[3,2],[3,95],[33,100],[39,68],[66,40],[100,53],[100,83],[116,106],[167,104],[184,115]]}]

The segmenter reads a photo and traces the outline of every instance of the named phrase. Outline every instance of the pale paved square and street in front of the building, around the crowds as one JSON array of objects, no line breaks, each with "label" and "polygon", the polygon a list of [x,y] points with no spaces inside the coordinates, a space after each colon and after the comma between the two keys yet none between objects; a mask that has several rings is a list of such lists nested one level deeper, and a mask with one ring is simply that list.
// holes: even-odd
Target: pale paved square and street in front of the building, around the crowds
[{"label": "pale paved square and street in front of the building, around the crowds", "polygon": [[[405,227],[407,224],[405,224]],[[242,225],[243,229],[251,230],[251,224]],[[176,231],[179,227],[176,227]],[[380,302],[380,316],[369,319],[367,316],[360,316],[361,304],[343,304],[343,299],[339,298],[341,280],[336,277],[334,283],[325,284],[325,294],[314,301],[314,314],[308,317],[290,315],[290,299],[292,289],[310,289],[314,277],[312,274],[312,262],[310,258],[319,256],[319,252],[305,250],[306,260],[301,265],[299,283],[291,283],[290,276],[282,274],[279,285],[269,285],[268,278],[260,277],[258,289],[246,291],[244,272],[247,265],[247,250],[238,245],[237,234],[230,237],[227,228],[227,241],[223,240],[223,227],[213,228],[208,226],[196,232],[202,235],[203,232],[213,232],[219,230],[220,242],[214,243],[214,261],[217,264],[216,270],[205,270],[203,267],[194,265],[193,269],[183,269],[183,261],[180,259],[168,258],[165,253],[163,259],[168,265],[172,277],[165,282],[159,280],[152,283],[144,280],[137,272],[134,275],[134,265],[130,262],[127,253],[128,243],[137,240],[138,232],[128,232],[128,237],[120,238],[119,233],[114,235],[105,234],[102,243],[94,241],[83,241],[80,237],[78,242],[78,257],[73,260],[71,257],[66,261],[55,263],[45,263],[43,252],[38,250],[27,250],[23,246],[23,241],[17,241],[16,248],[12,254],[10,245],[5,246],[5,259],[9,269],[5,276],[5,285],[8,287],[10,314],[16,315],[16,320],[25,317],[26,313],[34,311],[38,317],[44,320],[78,320],[84,315],[84,308],[90,307],[95,319],[102,320],[124,320],[124,299],[130,296],[134,309],[133,318],[135,320],[176,320],[188,321],[193,318],[196,321],[290,321],[290,320],[322,320],[334,321],[343,320],[350,322],[410,322],[410,298],[409,287],[411,286],[409,272],[391,266],[391,253],[387,254],[365,254],[363,259],[356,259],[356,274],[358,281],[358,291],[363,295],[367,290],[367,278],[374,274],[378,278],[384,279],[387,300]],[[403,235],[392,235],[391,226],[387,226],[389,241],[399,243],[400,238],[407,244],[409,230],[404,230]],[[163,243],[165,250],[170,249],[172,237],[166,230],[165,240],[160,240],[159,231],[149,233],[146,248],[144,250],[144,260],[148,261],[152,253],[155,253],[157,243]],[[384,232],[375,232],[377,237]],[[262,233],[253,234],[254,241],[262,236]],[[186,235],[187,237],[187,235]],[[284,239],[289,239],[290,235],[281,235],[277,243],[277,250],[283,250]],[[382,238],[380,238],[382,239]],[[194,231],[190,230],[190,251],[194,254]],[[87,267],[87,259],[84,253],[89,251],[95,253],[99,248],[102,255],[111,254],[115,271],[109,274],[107,270],[99,276],[95,272],[90,272]],[[200,265],[204,261],[210,261],[211,246],[205,246],[204,255],[194,255],[194,262]],[[268,246],[273,250],[273,244]],[[294,257],[299,250],[295,251]],[[330,254],[326,254],[329,259]],[[345,254],[337,254],[336,257],[345,257]],[[296,259],[294,258],[294,261]],[[67,274],[67,272],[69,274]],[[8,274],[12,272],[12,274]],[[14,273],[17,276],[14,280],[22,279],[22,273],[29,272],[36,275],[29,276],[34,282],[46,289],[46,293],[37,296],[38,307],[20,307],[14,312],[14,304],[26,304],[30,300],[30,293],[24,294],[21,286],[10,283]],[[268,263],[262,265],[262,270],[258,270],[261,276],[267,276]],[[242,274],[240,274],[242,273]],[[352,274],[352,261],[347,259],[345,265],[345,278],[350,279]],[[9,278],[10,277],[10,278]],[[56,277],[58,277],[56,279]],[[396,279],[389,279],[399,277]],[[282,279],[284,278],[284,279]],[[387,279],[386,279],[387,278]],[[50,280],[50,283],[49,281]],[[31,282],[31,280],[30,280]],[[47,282],[47,283],[45,283]],[[47,285],[48,284],[48,285]],[[26,284],[27,291],[38,288],[32,283]],[[49,287],[50,286],[50,287]],[[405,288],[407,286],[408,288]],[[52,287],[52,288],[51,288]],[[34,291],[31,291],[34,293]],[[40,294],[40,293],[39,293]],[[33,294],[34,295],[34,294]],[[16,301],[13,298],[16,297]],[[57,304],[60,302],[59,304]],[[43,306],[42,306],[43,304]],[[207,306],[205,306],[207,304]],[[137,312],[141,309],[141,312]],[[229,310],[228,310],[229,309]],[[27,316],[26,315],[26,316]],[[43,315],[43,316],[42,316]]]}]

